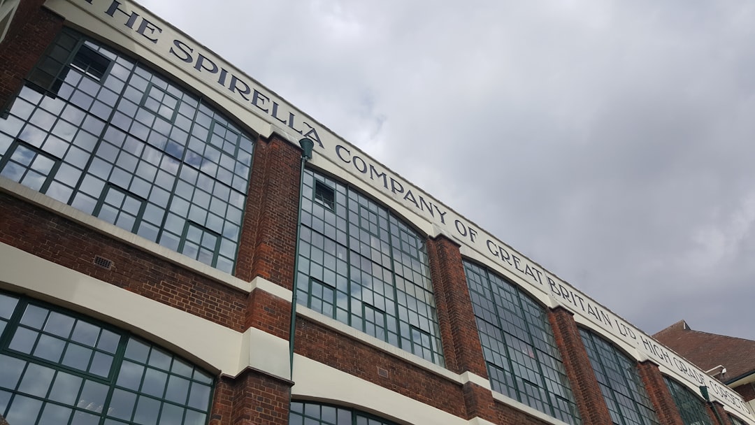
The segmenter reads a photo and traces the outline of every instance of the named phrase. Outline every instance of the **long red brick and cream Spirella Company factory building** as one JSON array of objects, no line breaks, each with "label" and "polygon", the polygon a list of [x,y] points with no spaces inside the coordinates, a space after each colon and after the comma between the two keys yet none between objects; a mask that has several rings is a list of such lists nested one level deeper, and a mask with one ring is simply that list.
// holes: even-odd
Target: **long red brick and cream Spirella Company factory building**
[{"label": "long red brick and cream Spirella Company factory building", "polygon": [[137,3],[2,0],[0,25],[11,425],[755,424]]}]

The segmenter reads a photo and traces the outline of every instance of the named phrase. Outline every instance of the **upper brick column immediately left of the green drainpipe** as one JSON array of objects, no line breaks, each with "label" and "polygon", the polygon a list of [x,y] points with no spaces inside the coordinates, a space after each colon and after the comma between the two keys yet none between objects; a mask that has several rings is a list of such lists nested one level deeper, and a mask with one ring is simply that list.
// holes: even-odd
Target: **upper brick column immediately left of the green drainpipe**
[{"label": "upper brick column immediately left of the green drainpipe", "polygon": [[273,135],[254,146],[236,276],[291,289],[294,282],[301,149]]}]

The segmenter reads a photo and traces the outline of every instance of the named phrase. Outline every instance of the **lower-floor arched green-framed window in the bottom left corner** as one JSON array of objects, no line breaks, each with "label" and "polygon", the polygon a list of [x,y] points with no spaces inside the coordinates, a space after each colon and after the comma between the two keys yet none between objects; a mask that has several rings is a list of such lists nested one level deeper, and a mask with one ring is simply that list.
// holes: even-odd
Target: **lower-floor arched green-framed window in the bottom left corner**
[{"label": "lower-floor arched green-framed window in the bottom left corner", "polygon": [[157,346],[0,292],[0,414],[8,423],[204,425],[212,387],[211,375]]}]

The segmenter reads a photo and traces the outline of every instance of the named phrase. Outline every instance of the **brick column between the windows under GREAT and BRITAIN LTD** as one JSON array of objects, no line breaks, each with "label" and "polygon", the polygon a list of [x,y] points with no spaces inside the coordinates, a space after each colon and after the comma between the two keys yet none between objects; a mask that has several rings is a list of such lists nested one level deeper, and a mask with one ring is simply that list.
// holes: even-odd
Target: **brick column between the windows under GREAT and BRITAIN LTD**
[{"label": "brick column between the windows under GREAT and BRITAIN LTD", "polygon": [[579,335],[574,315],[558,306],[548,312],[548,320],[556,337],[556,345],[564,362],[566,377],[572,383],[577,407],[584,425],[612,423],[609,408],[603,399],[587,350]]}]

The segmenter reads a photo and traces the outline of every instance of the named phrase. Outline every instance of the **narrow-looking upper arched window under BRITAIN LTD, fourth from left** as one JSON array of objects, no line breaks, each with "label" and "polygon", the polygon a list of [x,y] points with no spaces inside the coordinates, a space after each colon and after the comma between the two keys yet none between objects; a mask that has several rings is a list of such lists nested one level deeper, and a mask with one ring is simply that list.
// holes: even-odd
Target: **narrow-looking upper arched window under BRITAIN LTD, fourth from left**
[{"label": "narrow-looking upper arched window under BRITAIN LTD, fourth from left", "polygon": [[658,416],[639,377],[636,362],[586,329],[580,328],[579,334],[613,423],[657,425]]}]

